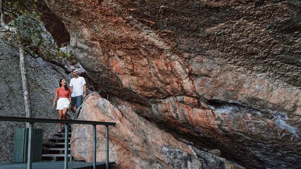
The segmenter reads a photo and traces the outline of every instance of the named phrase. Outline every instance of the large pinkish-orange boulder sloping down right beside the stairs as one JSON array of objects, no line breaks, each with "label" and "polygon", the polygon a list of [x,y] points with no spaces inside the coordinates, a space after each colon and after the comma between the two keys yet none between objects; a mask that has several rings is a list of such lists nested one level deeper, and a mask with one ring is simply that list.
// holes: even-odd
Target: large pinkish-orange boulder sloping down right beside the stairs
[{"label": "large pinkish-orange boulder sloping down right beside the stairs", "polygon": [[[216,155],[176,140],[137,115],[130,104],[115,107],[97,93],[85,100],[79,120],[116,122],[109,126],[109,160],[122,169],[237,169]],[[96,161],[105,161],[105,128],[96,127]],[[92,126],[74,124],[71,145],[77,160],[92,161]]]}]

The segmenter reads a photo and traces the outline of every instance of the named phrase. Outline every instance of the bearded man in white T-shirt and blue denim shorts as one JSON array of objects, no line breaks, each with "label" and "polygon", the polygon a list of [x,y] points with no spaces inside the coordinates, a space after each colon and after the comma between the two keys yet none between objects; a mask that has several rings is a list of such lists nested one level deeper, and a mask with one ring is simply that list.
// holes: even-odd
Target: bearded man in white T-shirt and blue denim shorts
[{"label": "bearded man in white T-shirt and blue denim shorts", "polygon": [[[72,75],[74,76],[74,78],[70,80],[72,104],[71,110],[73,111],[73,113],[75,113],[76,109],[82,104],[82,99],[87,96],[87,88],[85,78],[80,77],[76,69],[72,70]],[[74,108],[75,105],[76,109]]]}]

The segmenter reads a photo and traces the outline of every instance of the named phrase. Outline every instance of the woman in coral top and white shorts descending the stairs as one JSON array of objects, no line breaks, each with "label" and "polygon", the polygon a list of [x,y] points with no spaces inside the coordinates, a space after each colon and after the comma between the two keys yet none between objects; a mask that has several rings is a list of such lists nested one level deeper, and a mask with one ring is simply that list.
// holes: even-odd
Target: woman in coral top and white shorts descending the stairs
[{"label": "woman in coral top and white shorts descending the stairs", "polygon": [[[57,100],[57,96],[60,98],[57,100],[57,112],[58,112],[58,118],[60,120],[64,119],[67,120],[67,111],[68,108],[71,109],[71,90],[67,87],[67,83],[65,79],[60,79],[59,82],[60,87],[55,90],[55,97],[53,100],[52,107],[54,108],[55,102]],[[58,133],[62,132],[62,124],[58,124],[59,129]]]}]

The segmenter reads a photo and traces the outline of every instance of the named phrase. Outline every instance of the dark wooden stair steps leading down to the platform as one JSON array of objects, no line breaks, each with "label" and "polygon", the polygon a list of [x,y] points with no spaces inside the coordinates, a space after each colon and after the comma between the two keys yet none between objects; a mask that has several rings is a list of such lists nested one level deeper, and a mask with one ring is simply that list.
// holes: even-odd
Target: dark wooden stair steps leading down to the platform
[{"label": "dark wooden stair steps leading down to the platform", "polygon": [[[70,157],[71,133],[71,126],[69,125],[68,157]],[[64,161],[65,129],[63,128],[62,133],[54,133],[52,135],[52,138],[46,139],[49,142],[42,143],[42,161]]]}]

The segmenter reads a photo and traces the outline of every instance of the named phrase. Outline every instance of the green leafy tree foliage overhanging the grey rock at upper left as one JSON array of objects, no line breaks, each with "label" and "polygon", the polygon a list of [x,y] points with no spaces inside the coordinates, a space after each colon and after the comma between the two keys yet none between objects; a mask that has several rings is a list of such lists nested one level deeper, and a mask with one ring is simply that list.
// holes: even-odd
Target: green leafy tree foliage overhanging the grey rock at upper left
[{"label": "green leafy tree foliage overhanging the grey rock at upper left", "polygon": [[[10,26],[16,28],[22,35],[26,52],[34,57],[42,57],[45,60],[57,60],[62,62],[64,59],[71,60],[74,64],[78,63],[72,50],[61,51],[54,42],[52,36],[39,21],[42,16],[41,10],[45,3],[42,0],[5,1],[4,9],[13,18]],[[9,39],[18,42],[18,35],[13,33]],[[66,45],[62,44],[62,47]]]}]

